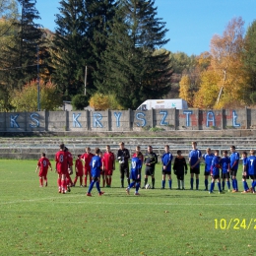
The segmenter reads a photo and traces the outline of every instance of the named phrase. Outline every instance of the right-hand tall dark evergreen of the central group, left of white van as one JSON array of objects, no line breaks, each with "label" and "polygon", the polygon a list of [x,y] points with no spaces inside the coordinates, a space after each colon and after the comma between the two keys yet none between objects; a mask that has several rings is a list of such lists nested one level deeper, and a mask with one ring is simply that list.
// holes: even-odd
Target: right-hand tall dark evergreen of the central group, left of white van
[{"label": "right-hand tall dark evergreen of the central group, left of white van", "polygon": [[170,88],[169,52],[161,49],[168,39],[165,23],[156,18],[155,1],[122,0],[111,25],[100,70],[107,88],[125,108],[147,98],[166,95]]}]

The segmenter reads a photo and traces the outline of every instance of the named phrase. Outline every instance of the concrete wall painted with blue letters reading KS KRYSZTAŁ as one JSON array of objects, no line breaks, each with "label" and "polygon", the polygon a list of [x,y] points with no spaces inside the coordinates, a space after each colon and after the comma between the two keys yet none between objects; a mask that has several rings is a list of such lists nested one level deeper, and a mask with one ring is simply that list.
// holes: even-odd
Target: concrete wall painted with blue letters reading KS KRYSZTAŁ
[{"label": "concrete wall painted with blue letters reading KS KRYSZTA\u0141", "polygon": [[145,132],[256,129],[256,109],[1,112],[0,132]]}]

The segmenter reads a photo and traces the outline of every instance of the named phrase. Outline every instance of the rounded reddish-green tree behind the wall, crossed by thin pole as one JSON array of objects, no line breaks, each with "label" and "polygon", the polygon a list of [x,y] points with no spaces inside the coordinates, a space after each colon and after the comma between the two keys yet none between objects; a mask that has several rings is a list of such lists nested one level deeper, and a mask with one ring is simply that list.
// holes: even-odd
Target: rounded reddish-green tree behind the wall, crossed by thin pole
[{"label": "rounded reddish-green tree behind the wall, crossed by thin pole", "polygon": [[[13,92],[11,104],[16,111],[37,110],[37,81],[32,80],[22,90],[16,89]],[[50,81],[45,83],[40,80],[40,105],[41,109],[56,110],[62,105],[56,85]]]}]

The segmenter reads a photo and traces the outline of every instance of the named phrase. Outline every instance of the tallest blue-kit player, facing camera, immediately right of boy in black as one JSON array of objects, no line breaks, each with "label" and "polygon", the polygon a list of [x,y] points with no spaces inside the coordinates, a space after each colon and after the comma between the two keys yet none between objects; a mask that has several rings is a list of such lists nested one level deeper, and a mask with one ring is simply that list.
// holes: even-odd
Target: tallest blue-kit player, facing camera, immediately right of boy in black
[{"label": "tallest blue-kit player, facing camera, immediately right of boy in black", "polygon": [[197,149],[197,143],[192,142],[193,150],[189,153],[189,165],[190,165],[190,189],[193,190],[194,174],[196,175],[196,189],[199,187],[199,174],[200,174],[200,160],[202,157],[201,151]]}]

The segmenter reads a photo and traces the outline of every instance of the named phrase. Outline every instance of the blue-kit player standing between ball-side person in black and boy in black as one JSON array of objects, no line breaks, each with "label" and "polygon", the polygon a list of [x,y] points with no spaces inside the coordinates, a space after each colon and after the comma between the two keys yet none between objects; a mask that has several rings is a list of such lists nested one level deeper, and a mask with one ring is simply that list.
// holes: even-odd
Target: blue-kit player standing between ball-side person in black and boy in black
[{"label": "blue-kit player standing between ball-side person in black and boy in black", "polygon": [[165,178],[168,177],[169,189],[171,189],[171,160],[173,159],[172,154],[169,152],[169,146],[164,146],[164,154],[161,157],[162,162],[162,180],[161,180],[161,189],[165,187]]}]

